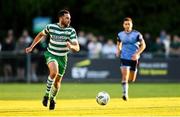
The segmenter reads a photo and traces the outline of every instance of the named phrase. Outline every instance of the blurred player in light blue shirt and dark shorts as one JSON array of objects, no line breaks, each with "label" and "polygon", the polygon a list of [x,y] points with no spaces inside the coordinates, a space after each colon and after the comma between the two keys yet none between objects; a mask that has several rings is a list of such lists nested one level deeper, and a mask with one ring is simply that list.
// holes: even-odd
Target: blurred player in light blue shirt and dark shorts
[{"label": "blurred player in light blue shirt and dark shorts", "polygon": [[123,100],[128,100],[128,81],[134,82],[137,75],[137,65],[140,54],[146,44],[140,32],[132,30],[132,19],[127,17],[123,21],[124,31],[117,36],[117,56],[121,59]]}]

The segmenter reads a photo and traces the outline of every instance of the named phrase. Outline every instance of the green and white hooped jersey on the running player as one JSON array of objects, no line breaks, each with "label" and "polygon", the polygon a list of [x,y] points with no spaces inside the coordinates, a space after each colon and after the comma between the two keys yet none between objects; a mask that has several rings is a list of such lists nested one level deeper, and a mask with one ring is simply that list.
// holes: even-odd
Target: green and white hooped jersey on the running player
[{"label": "green and white hooped jersey on the running player", "polygon": [[77,41],[76,31],[72,27],[62,28],[58,23],[49,24],[42,31],[45,35],[50,36],[47,50],[56,56],[66,56],[69,48],[66,46],[67,41]]}]

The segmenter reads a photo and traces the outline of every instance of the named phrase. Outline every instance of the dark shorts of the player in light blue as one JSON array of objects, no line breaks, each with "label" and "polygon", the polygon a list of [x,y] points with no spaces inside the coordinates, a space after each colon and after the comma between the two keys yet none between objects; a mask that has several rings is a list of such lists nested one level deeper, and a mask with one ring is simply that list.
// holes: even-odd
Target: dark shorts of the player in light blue
[{"label": "dark shorts of the player in light blue", "polygon": [[130,70],[137,71],[138,60],[133,61],[133,60],[121,59],[120,63],[121,63],[121,67],[127,66],[130,67]]}]

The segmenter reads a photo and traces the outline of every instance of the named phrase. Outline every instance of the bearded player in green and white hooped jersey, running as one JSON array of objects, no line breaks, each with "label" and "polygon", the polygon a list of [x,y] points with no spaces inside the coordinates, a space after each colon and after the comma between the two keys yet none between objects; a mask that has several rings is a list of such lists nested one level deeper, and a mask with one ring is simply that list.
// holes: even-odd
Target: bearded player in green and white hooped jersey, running
[{"label": "bearded player in green and white hooped jersey, running", "polygon": [[67,65],[67,53],[69,50],[78,52],[80,50],[77,41],[77,35],[74,28],[70,27],[71,16],[67,10],[58,12],[59,22],[49,24],[34,39],[30,47],[26,48],[26,53],[30,53],[42,37],[49,35],[50,41],[47,51],[44,53],[49,76],[47,79],[47,88],[43,97],[43,105],[47,107],[50,100],[49,109],[55,108],[55,97],[61,86],[61,80],[65,73]]}]

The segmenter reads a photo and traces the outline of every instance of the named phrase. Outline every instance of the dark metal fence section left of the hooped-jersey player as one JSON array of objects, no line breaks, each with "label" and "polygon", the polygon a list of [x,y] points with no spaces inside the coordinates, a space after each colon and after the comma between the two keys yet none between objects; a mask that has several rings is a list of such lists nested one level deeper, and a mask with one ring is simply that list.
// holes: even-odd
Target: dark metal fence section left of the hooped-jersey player
[{"label": "dark metal fence section left of the hooped-jersey player", "polygon": [[0,52],[0,82],[42,82],[47,75],[43,52]]}]

